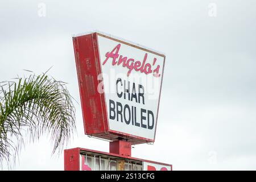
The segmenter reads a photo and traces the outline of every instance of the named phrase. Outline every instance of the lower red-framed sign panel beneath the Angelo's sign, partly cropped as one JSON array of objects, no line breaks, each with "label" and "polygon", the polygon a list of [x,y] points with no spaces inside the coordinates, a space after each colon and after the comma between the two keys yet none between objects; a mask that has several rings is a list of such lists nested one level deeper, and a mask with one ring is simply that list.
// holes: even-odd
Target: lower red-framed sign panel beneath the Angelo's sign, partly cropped
[{"label": "lower red-framed sign panel beneath the Angelo's sign, partly cropped", "polygon": [[171,164],[86,148],[64,150],[65,171],[171,171]]}]

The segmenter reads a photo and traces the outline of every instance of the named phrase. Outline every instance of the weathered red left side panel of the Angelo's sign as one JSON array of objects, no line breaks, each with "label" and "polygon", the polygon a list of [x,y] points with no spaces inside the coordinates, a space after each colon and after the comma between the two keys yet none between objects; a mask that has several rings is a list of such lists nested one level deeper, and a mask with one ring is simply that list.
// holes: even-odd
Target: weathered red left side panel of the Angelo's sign
[{"label": "weathered red left side panel of the Angelo's sign", "polygon": [[[73,38],[85,134],[108,131],[104,94],[97,92],[101,73],[96,34]],[[86,121],[86,122],[85,122]]]}]

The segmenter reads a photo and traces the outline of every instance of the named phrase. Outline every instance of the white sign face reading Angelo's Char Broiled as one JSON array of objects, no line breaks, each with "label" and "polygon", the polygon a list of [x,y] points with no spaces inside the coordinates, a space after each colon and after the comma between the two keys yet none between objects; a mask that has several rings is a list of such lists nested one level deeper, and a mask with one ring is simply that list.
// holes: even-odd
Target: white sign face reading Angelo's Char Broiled
[{"label": "white sign face reading Angelo's Char Broiled", "polygon": [[101,35],[98,49],[109,129],[154,140],[164,56]]}]

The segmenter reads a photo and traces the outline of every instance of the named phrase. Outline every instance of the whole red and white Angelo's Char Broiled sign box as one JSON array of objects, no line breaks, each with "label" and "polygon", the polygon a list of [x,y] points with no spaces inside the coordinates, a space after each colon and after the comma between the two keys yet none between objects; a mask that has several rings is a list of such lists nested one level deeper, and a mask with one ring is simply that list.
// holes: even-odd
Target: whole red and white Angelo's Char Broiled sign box
[{"label": "whole red and white Angelo's Char Broiled sign box", "polygon": [[85,134],[154,142],[165,56],[98,32],[73,46]]}]

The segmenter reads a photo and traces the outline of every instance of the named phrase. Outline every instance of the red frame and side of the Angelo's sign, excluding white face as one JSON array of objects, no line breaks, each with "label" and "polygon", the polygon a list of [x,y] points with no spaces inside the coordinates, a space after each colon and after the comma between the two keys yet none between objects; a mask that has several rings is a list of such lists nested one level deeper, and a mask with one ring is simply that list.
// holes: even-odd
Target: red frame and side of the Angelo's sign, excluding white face
[{"label": "red frame and side of the Angelo's sign, excluding white face", "polygon": [[[75,51],[77,77],[79,80],[80,98],[82,106],[82,116],[84,120],[84,130],[86,135],[91,135],[97,138],[108,139],[111,141],[119,140],[120,138],[126,139],[131,144],[150,143],[154,139],[147,139],[119,131],[109,129],[108,112],[106,109],[105,93],[97,92],[97,86],[100,81],[97,79],[98,75],[102,73],[99,45],[97,37],[104,36],[105,38],[112,39],[116,42],[127,44],[143,51],[151,52],[159,56],[165,56],[151,51],[146,48],[138,47],[134,44],[118,40],[110,36],[94,32],[92,34],[81,35],[73,37],[73,46]],[[163,63],[163,69],[164,69]],[[160,93],[162,89],[162,81],[160,86]],[[159,95],[160,100],[160,95]],[[158,110],[159,110],[158,100]],[[156,115],[156,124],[158,119],[158,111]],[[156,127],[156,126],[155,126]],[[156,128],[155,128],[156,133]]]}]

